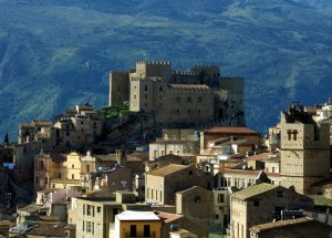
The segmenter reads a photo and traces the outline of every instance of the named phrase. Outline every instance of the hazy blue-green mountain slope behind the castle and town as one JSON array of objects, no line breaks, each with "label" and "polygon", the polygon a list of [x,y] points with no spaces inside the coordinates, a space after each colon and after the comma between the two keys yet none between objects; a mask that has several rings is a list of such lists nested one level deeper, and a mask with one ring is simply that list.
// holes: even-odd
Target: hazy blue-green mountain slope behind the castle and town
[{"label": "hazy blue-green mountain slope behind the castle and town", "polygon": [[1,0],[0,138],[76,103],[107,105],[108,71],[139,60],[246,77],[247,122],[262,132],[290,101],[332,96],[331,14],[323,0]]}]

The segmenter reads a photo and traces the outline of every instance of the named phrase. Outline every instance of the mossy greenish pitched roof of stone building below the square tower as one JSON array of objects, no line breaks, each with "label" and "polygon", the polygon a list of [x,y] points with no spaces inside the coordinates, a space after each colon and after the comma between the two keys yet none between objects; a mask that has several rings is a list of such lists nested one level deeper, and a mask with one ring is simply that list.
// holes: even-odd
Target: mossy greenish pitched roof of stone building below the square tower
[{"label": "mossy greenish pitched roof of stone building below the square tower", "polygon": [[247,187],[247,188],[245,188],[242,190],[239,190],[237,193],[234,193],[231,195],[231,197],[235,197],[235,198],[238,198],[238,199],[241,199],[241,200],[247,200],[247,199],[252,198],[257,195],[260,195],[260,194],[263,194],[266,192],[276,189],[277,187],[279,187],[279,186],[262,183],[262,184],[259,184],[259,185],[253,185],[253,186]]}]

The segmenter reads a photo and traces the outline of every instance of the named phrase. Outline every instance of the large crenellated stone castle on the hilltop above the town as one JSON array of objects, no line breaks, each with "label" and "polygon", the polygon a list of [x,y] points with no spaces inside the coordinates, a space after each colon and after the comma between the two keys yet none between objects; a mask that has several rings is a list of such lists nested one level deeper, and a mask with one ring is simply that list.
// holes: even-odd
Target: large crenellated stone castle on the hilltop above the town
[{"label": "large crenellated stone castle on the hilltop above the town", "polygon": [[110,72],[110,106],[129,102],[133,112],[149,113],[162,125],[245,122],[242,77],[220,76],[217,65],[174,71],[170,62],[136,63],[136,69]]}]

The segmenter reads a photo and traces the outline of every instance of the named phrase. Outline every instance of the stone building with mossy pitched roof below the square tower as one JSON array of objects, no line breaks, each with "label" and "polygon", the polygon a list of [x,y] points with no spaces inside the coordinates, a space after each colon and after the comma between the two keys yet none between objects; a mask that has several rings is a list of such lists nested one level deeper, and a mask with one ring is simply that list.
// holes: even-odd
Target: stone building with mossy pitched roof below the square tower
[{"label": "stone building with mossy pitched roof below the square tower", "polygon": [[280,219],[281,211],[313,209],[313,200],[278,185],[259,184],[231,195],[231,237],[249,237],[249,228]]}]

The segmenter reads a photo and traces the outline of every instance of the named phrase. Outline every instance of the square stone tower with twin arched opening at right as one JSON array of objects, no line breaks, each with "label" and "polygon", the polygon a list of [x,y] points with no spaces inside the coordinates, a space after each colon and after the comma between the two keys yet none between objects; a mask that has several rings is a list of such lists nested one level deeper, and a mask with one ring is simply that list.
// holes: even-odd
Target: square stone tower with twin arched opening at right
[{"label": "square stone tower with twin arched opening at right", "polygon": [[280,127],[281,186],[309,194],[313,183],[329,175],[329,125],[315,123],[303,106],[292,103],[281,113]]}]

